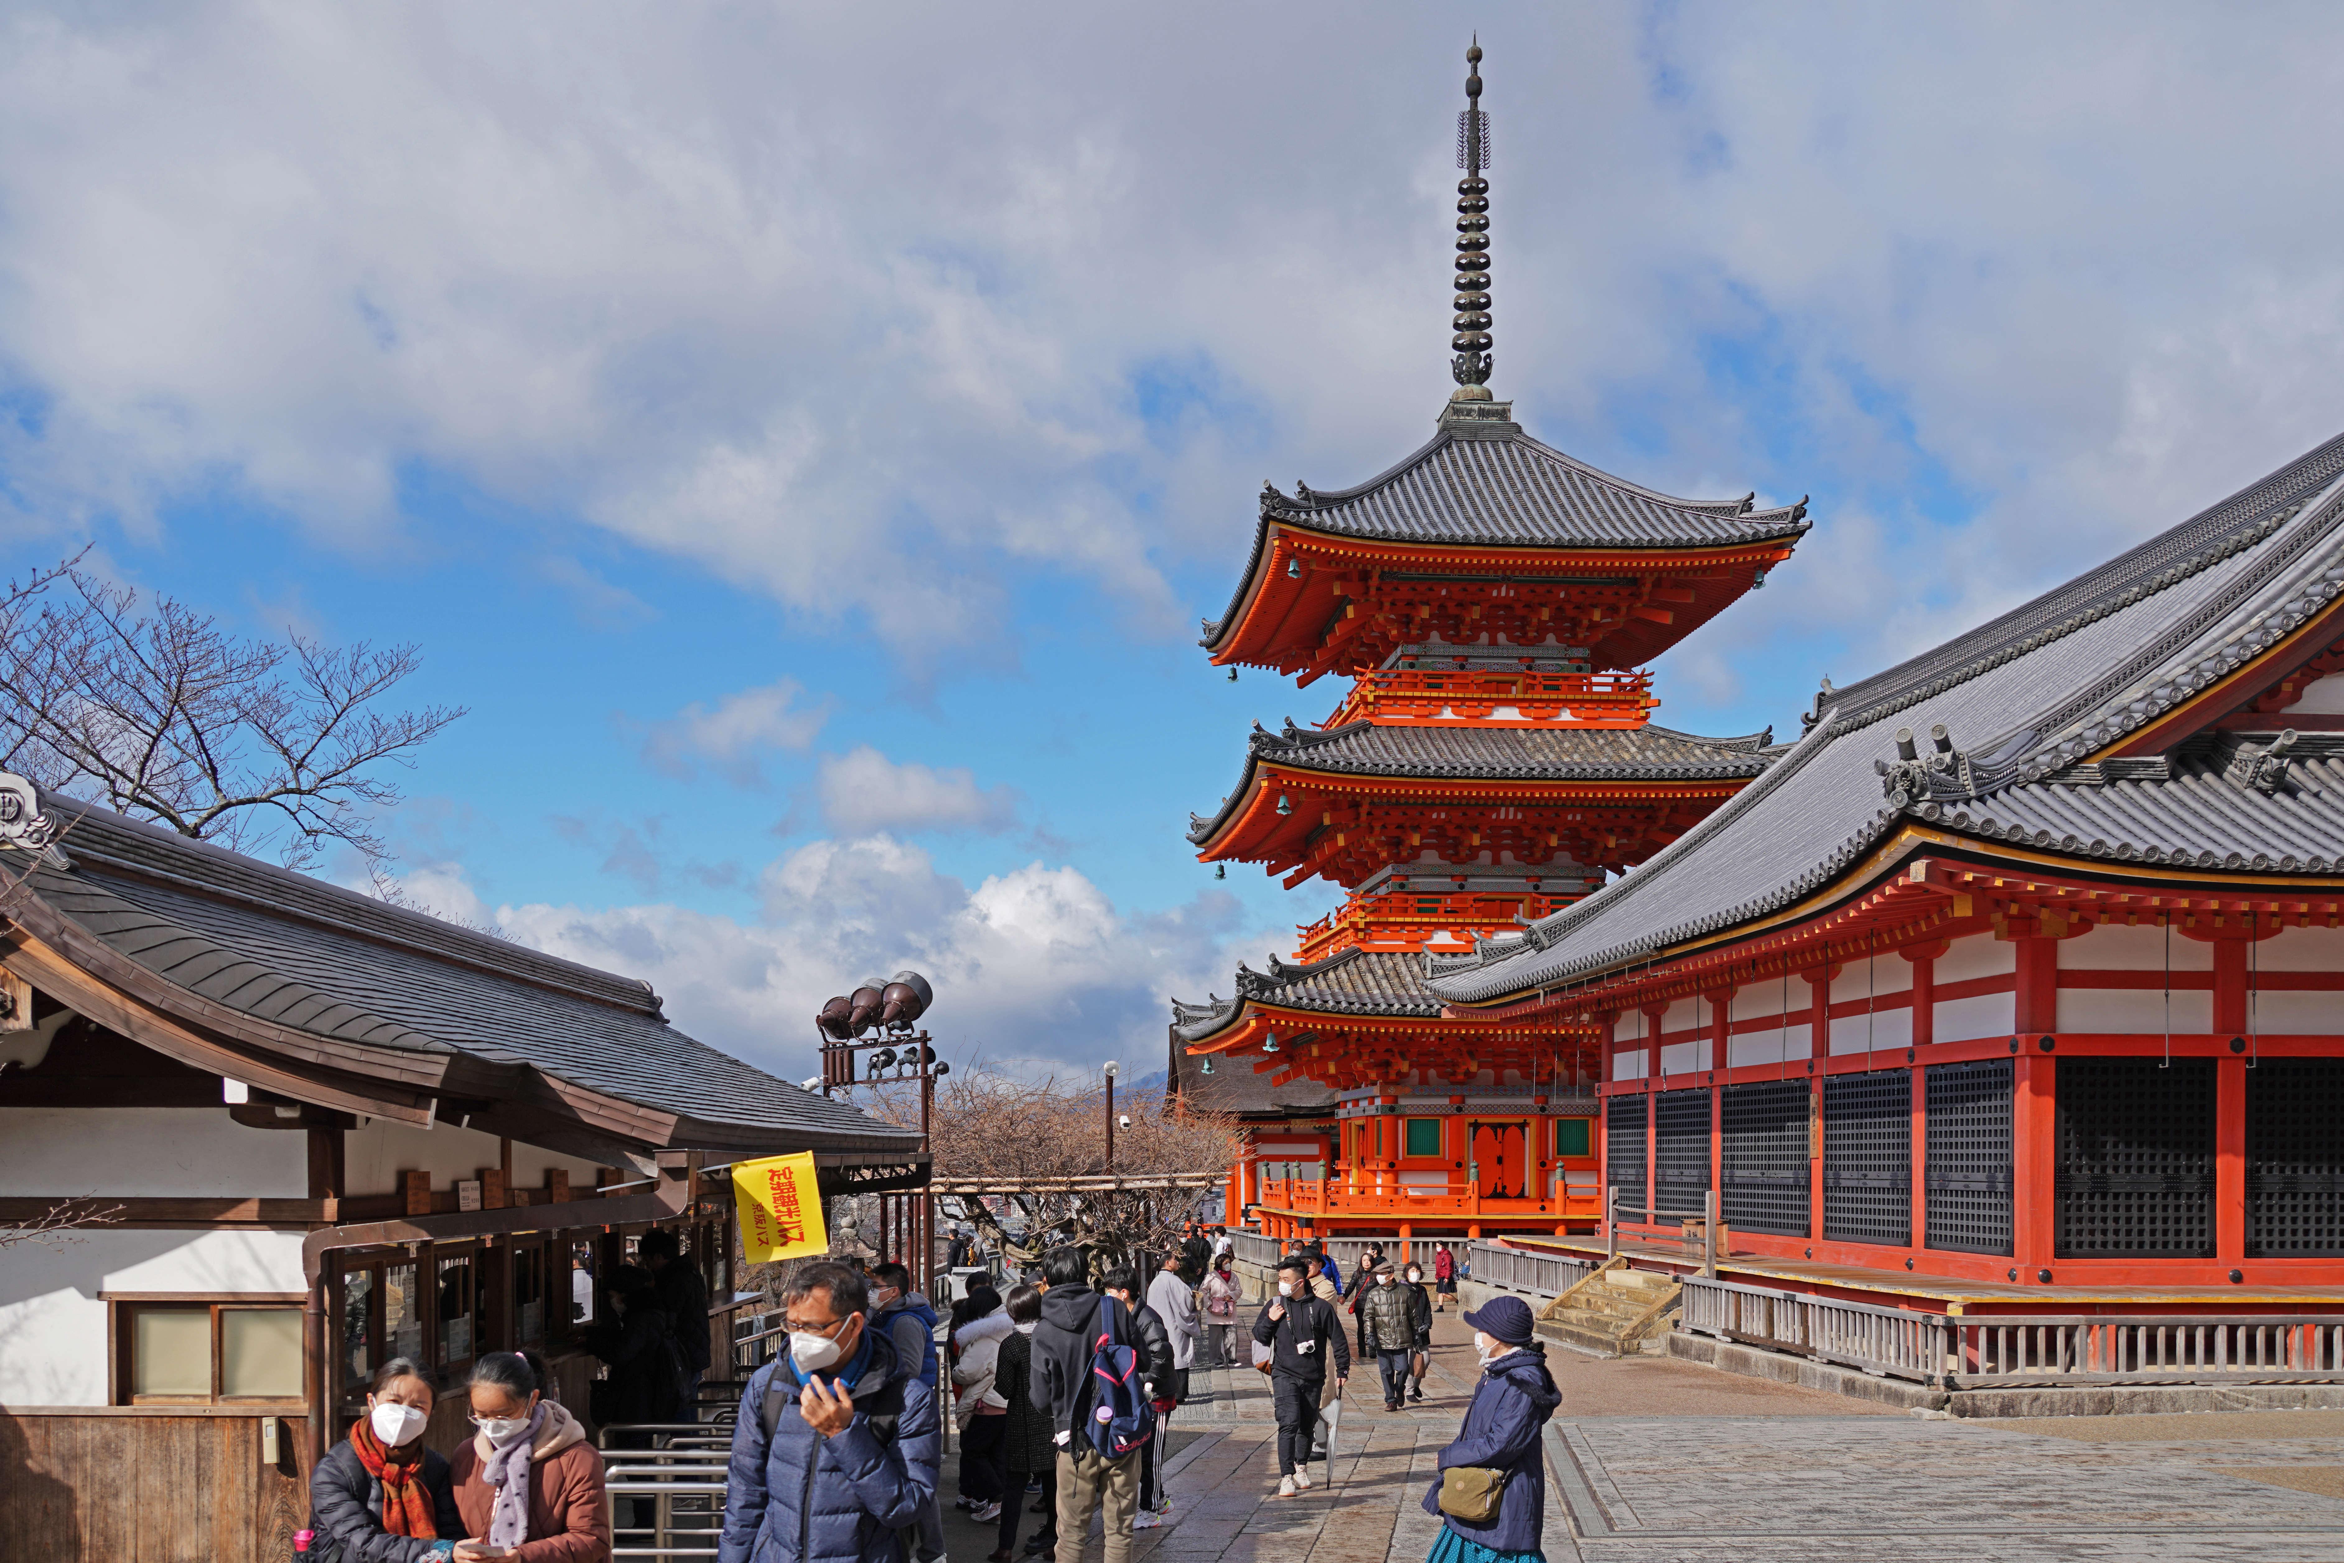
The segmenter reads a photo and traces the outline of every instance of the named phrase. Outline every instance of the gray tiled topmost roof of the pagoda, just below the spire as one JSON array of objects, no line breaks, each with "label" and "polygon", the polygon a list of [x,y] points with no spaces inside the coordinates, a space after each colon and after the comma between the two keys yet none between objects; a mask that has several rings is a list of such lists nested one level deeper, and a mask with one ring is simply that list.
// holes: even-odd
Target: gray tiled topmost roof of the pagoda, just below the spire
[{"label": "gray tiled topmost roof of the pagoda, just below the spire", "polygon": [[1756,511],[1751,499],[1671,499],[1526,434],[1444,431],[1357,487],[1296,487],[1289,497],[1263,485],[1252,558],[1228,614],[1205,621],[1205,644],[1242,607],[1273,523],[1376,541],[1498,548],[1723,548],[1800,537],[1810,525],[1805,501]]}]

